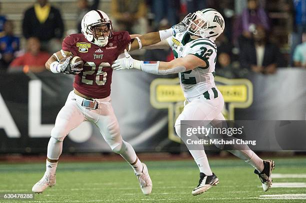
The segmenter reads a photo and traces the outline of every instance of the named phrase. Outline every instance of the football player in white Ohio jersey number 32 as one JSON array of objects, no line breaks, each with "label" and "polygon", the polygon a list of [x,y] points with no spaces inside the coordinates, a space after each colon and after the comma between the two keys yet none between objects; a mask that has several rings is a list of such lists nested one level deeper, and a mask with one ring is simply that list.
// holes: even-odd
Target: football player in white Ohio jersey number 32
[{"label": "football player in white Ohio jersey number 32", "polygon": [[[180,86],[188,102],[175,122],[175,131],[180,136],[181,120],[202,120],[208,124],[211,121],[225,120],[221,111],[224,100],[214,83],[214,68],[217,48],[214,40],[224,30],[224,19],[215,9],[206,8],[192,13],[186,30],[165,38],[159,31],[161,42],[147,48],[171,47],[175,59],[169,62],[138,61],[126,57],[116,60],[114,70],[136,68],[138,70],[166,75],[178,73]],[[141,41],[139,47],[141,47]],[[189,150],[199,171],[200,180],[191,192],[199,195],[210,187],[218,184],[218,178],[211,172],[204,147],[201,150]],[[271,171],[274,162],[260,159],[247,145],[243,150],[229,150],[238,158],[255,168],[254,173],[259,176],[263,191],[271,186]]]}]

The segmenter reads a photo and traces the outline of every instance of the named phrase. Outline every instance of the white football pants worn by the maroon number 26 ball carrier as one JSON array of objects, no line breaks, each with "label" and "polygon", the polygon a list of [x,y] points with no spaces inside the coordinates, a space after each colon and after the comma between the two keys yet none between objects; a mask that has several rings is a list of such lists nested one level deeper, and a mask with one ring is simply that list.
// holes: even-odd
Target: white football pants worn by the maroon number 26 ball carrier
[{"label": "white football pants worn by the maroon number 26 ball carrier", "polygon": [[[136,154],[131,145],[122,140],[118,121],[111,106],[110,96],[103,99],[96,99],[97,109],[87,109],[82,107],[84,98],[71,91],[67,97],[65,105],[57,114],[55,126],[51,131],[51,139],[48,145],[47,157],[58,159],[61,154],[60,149],[54,149],[54,142],[62,142],[65,136],[83,121],[93,123],[100,131],[106,143],[114,153],[120,154],[128,163],[136,160]],[[54,139],[52,139],[54,138]],[[49,149],[50,148],[50,149]]]}]

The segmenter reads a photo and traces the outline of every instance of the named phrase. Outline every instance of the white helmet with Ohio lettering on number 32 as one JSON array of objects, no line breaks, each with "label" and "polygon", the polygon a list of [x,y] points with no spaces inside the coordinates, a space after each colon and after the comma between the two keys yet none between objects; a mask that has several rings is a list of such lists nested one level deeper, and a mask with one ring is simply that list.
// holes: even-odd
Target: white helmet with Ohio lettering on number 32
[{"label": "white helmet with Ohio lettering on number 32", "polygon": [[212,8],[198,10],[191,15],[192,21],[188,24],[190,35],[215,40],[224,30],[225,24],[222,15]]}]

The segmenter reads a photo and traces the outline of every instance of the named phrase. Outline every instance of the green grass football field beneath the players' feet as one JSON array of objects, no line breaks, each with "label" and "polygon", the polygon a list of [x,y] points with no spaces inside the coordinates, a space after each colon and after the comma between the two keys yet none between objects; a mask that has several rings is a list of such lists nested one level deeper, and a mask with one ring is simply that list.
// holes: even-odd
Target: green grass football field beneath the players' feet
[{"label": "green grass football field beneath the players' feet", "polygon": [[[237,159],[210,160],[219,184],[208,192],[193,197],[198,169],[190,161],[145,162],[153,182],[152,194],[143,196],[132,169],[124,162],[59,163],[56,186],[34,200],[0,202],[39,203],[257,203],[306,202],[306,158],[274,159],[277,174],[299,174],[300,177],[273,180],[272,188],[263,192],[253,169]],[[31,192],[32,185],[44,173],[44,163],[0,164],[0,193]],[[295,175],[296,176],[296,175]],[[290,182],[294,188],[281,188]],[[278,186],[278,187],[277,187]],[[265,199],[263,195],[300,194],[288,200]],[[276,197],[277,198],[277,197]],[[299,199],[298,199],[299,198]],[[297,200],[296,200],[297,199]]]}]

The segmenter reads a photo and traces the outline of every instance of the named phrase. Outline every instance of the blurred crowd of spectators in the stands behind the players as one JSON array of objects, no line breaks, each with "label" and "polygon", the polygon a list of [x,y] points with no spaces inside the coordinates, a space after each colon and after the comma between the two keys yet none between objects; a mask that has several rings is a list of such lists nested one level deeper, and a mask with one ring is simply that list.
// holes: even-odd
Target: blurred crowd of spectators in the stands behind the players
[{"label": "blurred crowd of spectators in the stands behind the players", "polygon": [[[106,1],[106,0],[105,0]],[[27,71],[43,71],[48,57],[61,48],[61,40],[70,33],[80,33],[83,15],[92,9],[104,10],[116,30],[131,34],[169,28],[187,13],[211,7],[224,17],[224,33],[215,41],[216,74],[242,78],[249,72],[273,74],[279,67],[306,68],[306,0],[75,0],[75,29],[66,30],[61,13],[48,0],[36,0],[24,8],[22,35],[14,34],[14,23],[0,10],[0,72],[22,67]],[[69,1],[70,2],[70,1]],[[274,4],[273,4],[274,3]],[[269,8],[269,9],[267,9]],[[1,9],[1,4],[0,4]],[[286,13],[281,29],[273,17],[275,10]],[[272,16],[272,18],[271,18]],[[287,34],[286,34],[287,33]],[[284,42],[280,35],[284,35]],[[21,47],[20,39],[26,40]],[[287,40],[286,40],[287,39]],[[173,59],[170,49],[147,50],[139,58]]]}]

